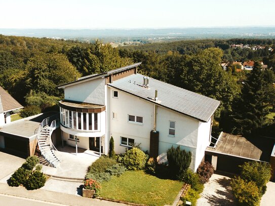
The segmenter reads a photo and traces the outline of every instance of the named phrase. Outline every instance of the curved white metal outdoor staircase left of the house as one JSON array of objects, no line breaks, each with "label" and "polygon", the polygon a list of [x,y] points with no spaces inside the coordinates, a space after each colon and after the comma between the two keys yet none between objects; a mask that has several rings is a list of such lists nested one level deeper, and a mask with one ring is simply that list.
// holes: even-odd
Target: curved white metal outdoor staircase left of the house
[{"label": "curved white metal outdoor staircase left of the house", "polygon": [[[59,121],[58,119],[51,120],[53,117],[56,116],[48,117],[43,119],[41,122],[37,131],[37,142],[41,151],[41,155],[48,162],[49,166],[56,168],[60,163],[60,160],[55,155],[55,150],[57,149],[52,143],[51,135],[53,131],[59,126]],[[51,125],[49,125],[50,122]]]}]

